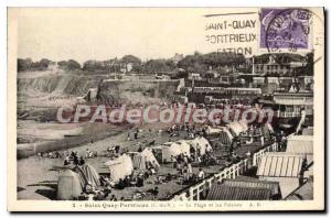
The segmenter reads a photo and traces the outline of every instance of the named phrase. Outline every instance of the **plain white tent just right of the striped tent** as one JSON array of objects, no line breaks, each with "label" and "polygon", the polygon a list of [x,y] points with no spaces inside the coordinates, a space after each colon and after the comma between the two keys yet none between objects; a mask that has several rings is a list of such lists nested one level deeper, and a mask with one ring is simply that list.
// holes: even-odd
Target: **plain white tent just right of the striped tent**
[{"label": "plain white tent just right of the striped tent", "polygon": [[110,179],[117,183],[120,178],[125,178],[131,175],[134,171],[134,164],[130,156],[124,154],[116,160],[110,160],[105,163],[110,171]]}]

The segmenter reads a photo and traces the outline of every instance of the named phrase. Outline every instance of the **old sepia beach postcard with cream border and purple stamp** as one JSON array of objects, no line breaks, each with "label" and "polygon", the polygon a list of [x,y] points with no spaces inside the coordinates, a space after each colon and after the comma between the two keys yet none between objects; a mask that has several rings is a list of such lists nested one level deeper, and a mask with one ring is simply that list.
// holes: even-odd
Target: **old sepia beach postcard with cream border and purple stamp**
[{"label": "old sepia beach postcard with cream border and purple stamp", "polygon": [[323,8],[9,8],[8,210],[324,210]]}]

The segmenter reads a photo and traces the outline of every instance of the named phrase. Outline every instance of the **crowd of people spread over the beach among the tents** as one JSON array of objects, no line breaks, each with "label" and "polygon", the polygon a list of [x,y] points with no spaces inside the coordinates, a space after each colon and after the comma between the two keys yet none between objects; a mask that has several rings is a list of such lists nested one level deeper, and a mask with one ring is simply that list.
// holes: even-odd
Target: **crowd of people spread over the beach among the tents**
[{"label": "crowd of people spread over the beach among the tents", "polygon": [[[150,130],[151,131],[151,130]],[[129,141],[137,141],[135,148],[136,151],[129,151],[127,148],[121,148],[119,144],[110,145],[106,149],[106,156],[116,157],[122,154],[129,154],[132,152],[142,152],[145,148],[153,146],[156,144],[156,140],[148,142],[147,140],[139,142],[138,139],[142,139],[140,135],[141,130],[135,128],[128,132]],[[185,139],[195,139],[199,135],[203,135],[209,139],[209,134],[206,133],[205,128],[199,127],[196,128],[194,124],[174,124],[166,130],[169,138],[173,137],[183,137]],[[265,141],[276,138],[275,140],[279,144],[286,144],[285,139],[286,135],[284,132],[275,132],[273,135],[265,134],[261,127],[250,124],[248,129],[239,134],[235,135],[229,144],[224,144],[223,146],[226,149],[225,153],[227,155],[227,160],[232,163],[241,160],[241,156],[237,154],[237,150],[241,146],[253,144],[254,142],[259,142],[260,146],[264,146]],[[281,148],[281,145],[280,145]],[[218,165],[221,162],[218,156],[215,156],[215,150],[217,148],[206,146],[202,152],[201,144],[196,144],[196,146],[190,145],[190,152],[180,153],[179,155],[171,155],[170,162],[171,166],[175,170],[175,174],[172,173],[159,173],[159,167],[157,167],[154,163],[146,163],[146,170],[141,171],[138,168],[134,168],[131,175],[127,175],[124,178],[119,178],[118,182],[114,183],[109,175],[100,175],[100,187],[93,186],[92,184],[87,184],[77,199],[94,199],[94,200],[125,200],[121,196],[117,197],[116,194],[113,193],[114,189],[122,190],[127,187],[145,187],[146,184],[151,187],[147,192],[138,192],[134,195],[134,198],[145,198],[148,195],[157,198],[159,195],[159,185],[167,184],[169,182],[175,182],[181,185],[191,185],[196,182],[203,181],[206,177],[206,172],[204,167],[209,167],[212,165]],[[44,155],[44,154],[41,154]],[[250,151],[247,152],[247,155],[250,155]],[[49,154],[50,157],[60,159],[63,157],[64,165],[84,165],[88,159],[97,157],[98,153],[96,151],[90,151],[86,149],[85,155],[78,155],[76,151],[64,151],[64,152],[52,152]],[[157,156],[157,155],[156,155]],[[195,171],[194,171],[195,168]],[[173,171],[171,171],[173,172]],[[152,178],[152,179],[150,179]]]}]

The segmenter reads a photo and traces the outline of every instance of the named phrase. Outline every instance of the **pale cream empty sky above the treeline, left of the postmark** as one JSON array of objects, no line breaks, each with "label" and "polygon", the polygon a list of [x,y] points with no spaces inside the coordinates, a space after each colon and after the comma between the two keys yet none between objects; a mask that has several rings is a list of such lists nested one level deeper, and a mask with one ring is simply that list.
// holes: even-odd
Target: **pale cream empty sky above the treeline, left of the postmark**
[{"label": "pale cream empty sky above the treeline, left of the postmark", "polygon": [[83,63],[126,54],[147,61],[214,52],[217,47],[205,41],[204,28],[211,19],[203,15],[217,12],[220,9],[196,8],[19,9],[18,56]]}]

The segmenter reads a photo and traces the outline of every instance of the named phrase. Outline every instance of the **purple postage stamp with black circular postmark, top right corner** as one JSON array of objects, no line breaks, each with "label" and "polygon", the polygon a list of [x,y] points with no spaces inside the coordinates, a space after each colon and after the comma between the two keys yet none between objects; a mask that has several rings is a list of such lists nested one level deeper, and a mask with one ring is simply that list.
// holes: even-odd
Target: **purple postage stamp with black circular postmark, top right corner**
[{"label": "purple postage stamp with black circular postmark, top right corner", "polygon": [[260,47],[269,52],[308,48],[310,18],[308,9],[261,9]]}]

